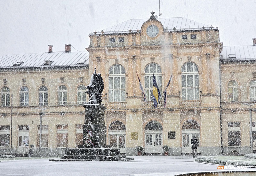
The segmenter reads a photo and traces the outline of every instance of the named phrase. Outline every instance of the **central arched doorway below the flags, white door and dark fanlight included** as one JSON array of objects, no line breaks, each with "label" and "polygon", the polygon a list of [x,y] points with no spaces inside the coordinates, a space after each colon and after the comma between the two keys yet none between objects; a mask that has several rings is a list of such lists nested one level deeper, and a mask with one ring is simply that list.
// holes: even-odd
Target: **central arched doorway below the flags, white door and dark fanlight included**
[{"label": "central arched doorway below the flags, white door and dark fanlight included", "polygon": [[155,120],[145,126],[145,153],[163,153],[163,127]]}]

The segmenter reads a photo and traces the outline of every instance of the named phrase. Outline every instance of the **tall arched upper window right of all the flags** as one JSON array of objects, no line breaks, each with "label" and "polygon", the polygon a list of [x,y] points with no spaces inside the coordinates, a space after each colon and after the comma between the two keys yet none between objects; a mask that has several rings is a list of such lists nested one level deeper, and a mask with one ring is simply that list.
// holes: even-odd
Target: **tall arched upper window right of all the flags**
[{"label": "tall arched upper window right of all the flags", "polygon": [[199,100],[198,67],[194,62],[187,62],[181,67],[182,100]]}]

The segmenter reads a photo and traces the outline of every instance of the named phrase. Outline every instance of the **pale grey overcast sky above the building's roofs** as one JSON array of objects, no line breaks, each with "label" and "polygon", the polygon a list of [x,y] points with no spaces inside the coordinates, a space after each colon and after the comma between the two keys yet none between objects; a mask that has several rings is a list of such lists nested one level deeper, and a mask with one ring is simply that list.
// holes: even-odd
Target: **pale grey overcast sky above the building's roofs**
[{"label": "pale grey overcast sky above the building's roofs", "polygon": [[[252,45],[255,7],[255,0],[161,0],[160,12],[218,27],[224,46]],[[158,15],[159,0],[1,0],[0,56],[48,52],[48,44],[85,51],[90,32],[149,18],[152,10]]]}]

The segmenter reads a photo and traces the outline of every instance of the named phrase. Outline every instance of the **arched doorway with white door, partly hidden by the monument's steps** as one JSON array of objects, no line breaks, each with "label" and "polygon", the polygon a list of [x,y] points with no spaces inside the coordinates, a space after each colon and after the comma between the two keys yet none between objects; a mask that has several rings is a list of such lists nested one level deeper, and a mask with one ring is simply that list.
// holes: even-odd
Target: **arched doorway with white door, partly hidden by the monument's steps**
[{"label": "arched doorway with white door, partly hidden by the monument's steps", "polygon": [[110,147],[120,148],[125,152],[125,125],[120,121],[114,121],[108,126],[108,139]]}]

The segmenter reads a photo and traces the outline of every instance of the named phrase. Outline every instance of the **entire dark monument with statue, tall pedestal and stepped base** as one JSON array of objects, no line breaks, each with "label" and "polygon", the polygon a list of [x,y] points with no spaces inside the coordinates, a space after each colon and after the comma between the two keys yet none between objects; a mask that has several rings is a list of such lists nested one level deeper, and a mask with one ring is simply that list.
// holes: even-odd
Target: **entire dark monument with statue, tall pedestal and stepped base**
[{"label": "entire dark monument with statue, tall pedestal and stepped base", "polygon": [[85,117],[83,125],[83,145],[78,148],[67,148],[65,155],[60,159],[50,161],[127,161],[120,154],[119,148],[110,148],[106,145],[107,128],[104,122],[105,107],[101,104],[101,95],[104,89],[103,79],[96,73],[91,76],[90,84],[86,86],[89,100],[83,105]]}]

